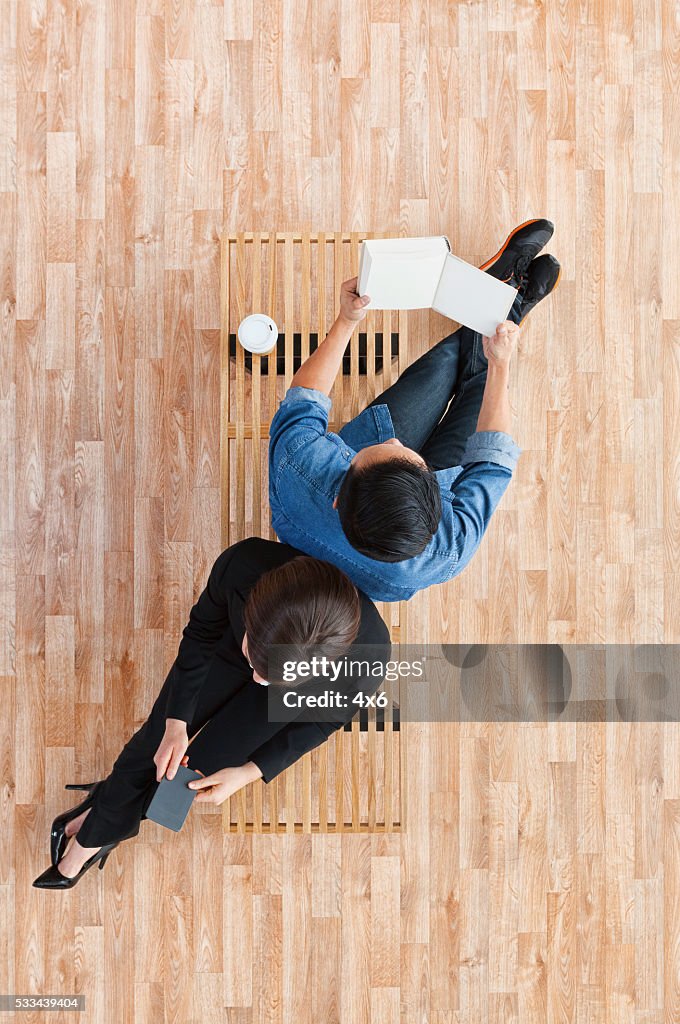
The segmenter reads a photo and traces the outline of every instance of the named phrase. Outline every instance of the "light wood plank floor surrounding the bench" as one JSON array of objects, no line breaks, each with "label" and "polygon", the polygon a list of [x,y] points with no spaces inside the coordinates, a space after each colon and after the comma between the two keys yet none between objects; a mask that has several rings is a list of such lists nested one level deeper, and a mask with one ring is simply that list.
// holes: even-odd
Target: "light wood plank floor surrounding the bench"
[{"label": "light wood plank floor surrounding the bench", "polygon": [[[672,723],[412,724],[401,834],[197,808],[31,886],[221,550],[224,231],[481,262],[551,217],[517,473],[410,639],[680,640],[679,123],[677,0],[0,0],[0,992],[82,992],[84,1024],[680,1020]],[[411,354],[448,331],[412,314]]]}]

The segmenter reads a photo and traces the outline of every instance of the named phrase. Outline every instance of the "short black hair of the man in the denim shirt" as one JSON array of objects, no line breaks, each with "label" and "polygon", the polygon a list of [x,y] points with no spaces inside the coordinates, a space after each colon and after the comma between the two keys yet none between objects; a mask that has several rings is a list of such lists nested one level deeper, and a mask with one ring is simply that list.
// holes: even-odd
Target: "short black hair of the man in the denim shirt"
[{"label": "short black hair of the man in the denim shirt", "polygon": [[441,494],[432,470],[395,457],[354,469],[338,492],[344,535],[356,551],[380,562],[400,562],[424,551],[441,518]]}]

